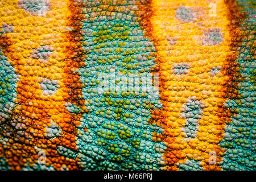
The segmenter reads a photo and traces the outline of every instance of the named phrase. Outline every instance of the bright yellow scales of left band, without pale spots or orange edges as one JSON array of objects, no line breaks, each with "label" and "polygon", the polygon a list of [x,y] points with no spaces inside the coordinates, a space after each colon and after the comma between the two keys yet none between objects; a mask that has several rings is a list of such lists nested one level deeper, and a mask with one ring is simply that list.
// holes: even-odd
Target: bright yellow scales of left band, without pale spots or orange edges
[{"label": "bright yellow scales of left band, without pale spots or orange edges", "polygon": [[[65,88],[64,85],[64,78],[67,76],[63,69],[67,67],[65,63],[68,60],[67,47],[69,46],[69,38],[67,37],[69,27],[67,25],[72,12],[68,8],[70,5],[68,0],[42,2],[49,3],[49,9],[47,11],[43,9],[42,12],[34,14],[22,9],[21,5],[24,5],[26,1],[0,1],[0,30],[3,24],[14,27],[13,32],[6,32],[1,37],[1,39],[10,42],[6,49],[3,48],[3,53],[14,65],[15,72],[19,75],[16,90],[18,103],[23,104],[18,105],[14,113],[22,111],[26,115],[27,122],[33,123],[30,118],[35,118],[38,119],[38,125],[42,127],[49,127],[51,121],[54,121],[63,128],[67,117],[64,106],[67,102],[65,97],[68,96],[68,88]],[[42,46],[53,48],[51,56],[47,59],[47,64],[31,58],[33,51]],[[55,94],[45,96],[42,93],[39,83],[43,78],[57,80],[59,89],[56,90]],[[29,104],[27,105],[26,102]],[[45,119],[40,114],[39,105],[43,105],[44,113],[51,115],[51,119]],[[34,131],[38,137],[43,137],[46,128],[36,130],[30,126],[30,131]],[[65,141],[62,142],[65,143]],[[70,142],[67,142],[67,145],[70,145]],[[46,144],[39,144],[38,147],[47,148]],[[23,162],[26,164],[26,161]],[[17,167],[16,169],[20,168]]]}]

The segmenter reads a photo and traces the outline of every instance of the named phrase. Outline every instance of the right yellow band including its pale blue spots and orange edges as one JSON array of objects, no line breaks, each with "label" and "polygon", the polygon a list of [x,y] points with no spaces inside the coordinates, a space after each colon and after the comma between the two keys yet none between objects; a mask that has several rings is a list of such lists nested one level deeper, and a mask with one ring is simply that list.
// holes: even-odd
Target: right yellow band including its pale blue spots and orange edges
[{"label": "right yellow band including its pale blue spots and orange edges", "polygon": [[[216,3],[216,16],[209,14],[210,3]],[[152,116],[164,129],[159,138],[167,143],[166,169],[221,170],[220,142],[233,113],[225,104],[238,98],[237,34],[229,30],[236,2],[152,0],[146,6],[142,11],[150,14],[142,14],[141,24],[157,51],[163,104]],[[209,163],[211,154],[216,163]]]}]

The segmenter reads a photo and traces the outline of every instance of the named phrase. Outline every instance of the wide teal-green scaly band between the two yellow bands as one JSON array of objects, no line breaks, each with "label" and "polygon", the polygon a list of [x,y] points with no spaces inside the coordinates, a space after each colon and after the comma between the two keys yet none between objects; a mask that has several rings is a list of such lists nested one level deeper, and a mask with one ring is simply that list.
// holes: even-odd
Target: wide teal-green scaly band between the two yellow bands
[{"label": "wide teal-green scaly band between the two yellow bands", "polygon": [[[110,6],[119,13],[106,15],[104,10],[99,11],[100,2],[88,5],[83,10],[88,16],[82,24],[85,65],[78,72],[89,112],[82,116],[78,127],[78,156],[64,148],[59,150],[67,157],[77,157],[84,169],[160,169],[164,166],[165,146],[152,134],[161,129],[148,121],[150,110],[159,109],[161,104],[152,85],[146,92],[142,90],[147,86],[143,77],[155,64],[151,56],[154,46],[144,38],[138,17],[128,7]],[[140,79],[139,90],[134,90],[130,74]],[[101,90],[104,80],[107,86]],[[133,85],[128,86],[129,82]],[[121,89],[124,84],[127,89]],[[71,106],[70,110],[77,112],[79,108]]]}]

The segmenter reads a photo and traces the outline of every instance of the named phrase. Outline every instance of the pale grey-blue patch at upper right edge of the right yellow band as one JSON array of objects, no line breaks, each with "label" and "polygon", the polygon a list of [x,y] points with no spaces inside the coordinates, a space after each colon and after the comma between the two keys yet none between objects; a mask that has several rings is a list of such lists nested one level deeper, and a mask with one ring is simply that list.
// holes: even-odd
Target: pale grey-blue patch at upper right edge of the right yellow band
[{"label": "pale grey-blue patch at upper right edge of the right yellow band", "polygon": [[216,46],[224,41],[221,28],[209,28],[201,39],[204,46]]}]

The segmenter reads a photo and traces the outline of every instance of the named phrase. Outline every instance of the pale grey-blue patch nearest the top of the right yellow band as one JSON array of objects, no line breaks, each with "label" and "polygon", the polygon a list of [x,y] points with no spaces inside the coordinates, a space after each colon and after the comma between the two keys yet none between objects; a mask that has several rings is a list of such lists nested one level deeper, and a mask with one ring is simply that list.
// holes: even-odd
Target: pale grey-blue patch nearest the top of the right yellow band
[{"label": "pale grey-blue patch nearest the top of the right yellow band", "polygon": [[195,22],[196,12],[191,7],[180,5],[175,11],[175,18],[182,23]]}]

